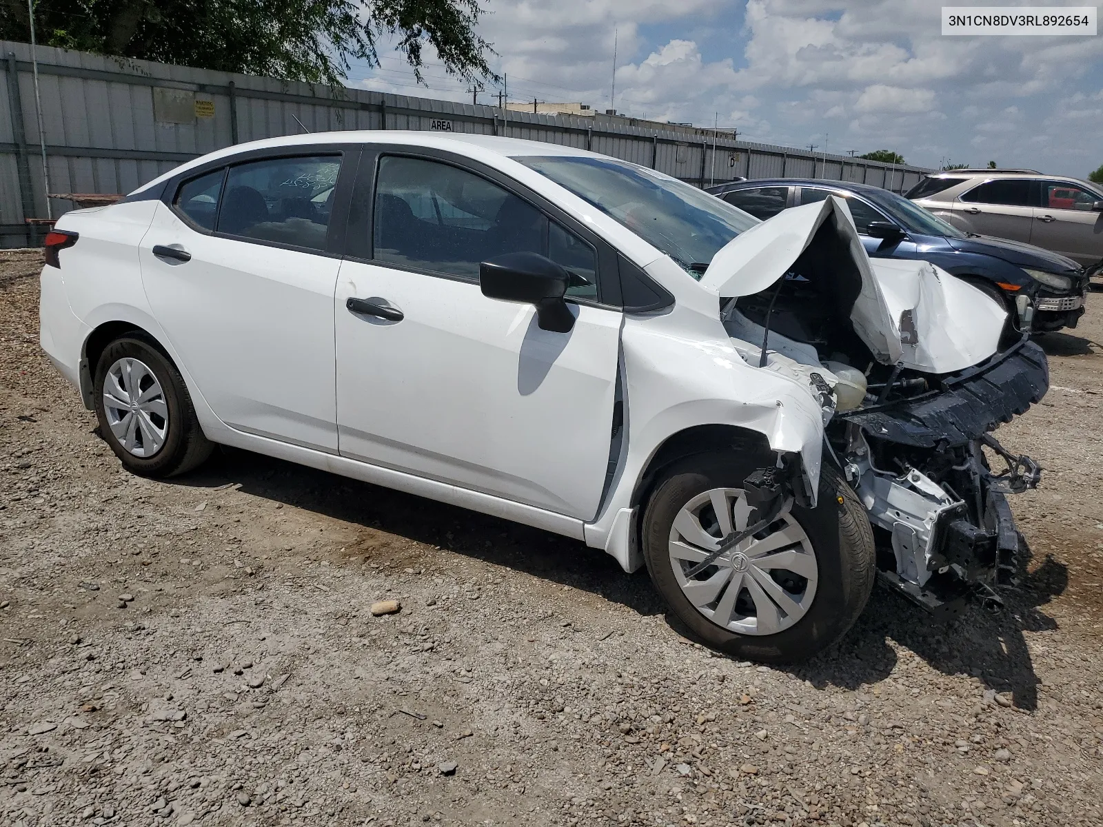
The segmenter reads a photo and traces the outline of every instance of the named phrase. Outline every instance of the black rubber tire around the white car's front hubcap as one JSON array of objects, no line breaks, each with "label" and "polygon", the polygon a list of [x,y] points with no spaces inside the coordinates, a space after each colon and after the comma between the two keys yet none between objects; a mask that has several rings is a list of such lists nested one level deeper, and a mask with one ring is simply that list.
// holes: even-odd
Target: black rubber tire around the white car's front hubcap
[{"label": "black rubber tire around the white car's front hubcap", "polygon": [[838,641],[861,614],[874,588],[874,535],[866,512],[846,482],[828,466],[820,473],[818,505],[794,505],[792,517],[811,540],[818,586],[806,613],[775,634],[737,634],[714,623],[689,602],[675,579],[668,541],[674,519],[695,496],[741,488],[769,460],[736,453],[698,454],[675,463],[657,482],[643,517],[643,556],[652,581],[670,608],[709,646],[748,660],[793,663]]}]

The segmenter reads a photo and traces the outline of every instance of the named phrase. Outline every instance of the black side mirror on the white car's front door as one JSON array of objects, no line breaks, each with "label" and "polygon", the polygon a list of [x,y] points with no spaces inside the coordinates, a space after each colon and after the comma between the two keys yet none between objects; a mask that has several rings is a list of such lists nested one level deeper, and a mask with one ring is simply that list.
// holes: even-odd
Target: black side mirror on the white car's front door
[{"label": "black side mirror on the white car's front door", "polygon": [[564,301],[570,275],[538,253],[507,253],[479,265],[479,288],[488,299],[535,304],[540,330],[569,333],[575,316]]}]

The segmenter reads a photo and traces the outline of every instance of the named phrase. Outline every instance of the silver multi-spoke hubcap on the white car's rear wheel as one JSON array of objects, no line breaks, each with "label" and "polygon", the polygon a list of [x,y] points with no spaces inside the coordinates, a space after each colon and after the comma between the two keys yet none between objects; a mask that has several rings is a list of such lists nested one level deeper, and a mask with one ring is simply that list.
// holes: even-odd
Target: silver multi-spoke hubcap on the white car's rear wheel
[{"label": "silver multi-spoke hubcap on the white car's rear wheel", "polygon": [[169,406],[153,372],[138,359],[121,358],[104,378],[104,412],[119,444],[135,457],[161,450],[169,432]]}]

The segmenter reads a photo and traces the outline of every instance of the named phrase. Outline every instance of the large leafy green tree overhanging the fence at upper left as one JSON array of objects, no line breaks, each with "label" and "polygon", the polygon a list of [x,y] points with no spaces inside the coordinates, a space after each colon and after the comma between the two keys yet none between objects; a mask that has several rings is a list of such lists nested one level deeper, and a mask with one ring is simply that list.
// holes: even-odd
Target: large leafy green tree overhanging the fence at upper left
[{"label": "large leafy green tree overhanging the fence at upper left", "polygon": [[[339,85],[350,62],[379,65],[381,37],[421,80],[431,45],[446,71],[497,79],[474,29],[479,0],[50,0],[34,11],[44,45],[286,80]],[[0,0],[0,40],[29,41],[25,0]]]}]

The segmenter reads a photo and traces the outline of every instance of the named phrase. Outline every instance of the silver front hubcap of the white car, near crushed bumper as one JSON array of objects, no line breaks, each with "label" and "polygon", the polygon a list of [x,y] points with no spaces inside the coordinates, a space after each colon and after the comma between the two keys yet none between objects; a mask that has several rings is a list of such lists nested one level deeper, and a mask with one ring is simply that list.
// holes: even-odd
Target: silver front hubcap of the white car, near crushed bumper
[{"label": "silver front hubcap of the white car, near crushed bumper", "polygon": [[747,528],[742,488],[714,488],[683,506],[671,527],[674,577],[697,611],[729,632],[770,635],[805,615],[816,595],[820,568],[812,541],[789,514],[748,537],[693,578],[685,572]]}]

